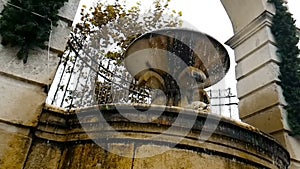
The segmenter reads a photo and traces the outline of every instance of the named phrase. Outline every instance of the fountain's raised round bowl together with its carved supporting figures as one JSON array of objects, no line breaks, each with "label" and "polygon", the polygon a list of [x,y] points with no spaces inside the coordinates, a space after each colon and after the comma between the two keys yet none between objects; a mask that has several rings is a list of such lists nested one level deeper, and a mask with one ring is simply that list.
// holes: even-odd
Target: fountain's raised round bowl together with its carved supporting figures
[{"label": "fountain's raised round bowl together with its carved supporting figures", "polygon": [[[168,28],[137,38],[125,52],[127,70],[138,81],[166,95],[153,96],[154,104],[191,107],[201,101],[209,104],[203,90],[227,73],[230,59],[226,49],[201,32]],[[180,94],[181,92],[181,94]]]}]

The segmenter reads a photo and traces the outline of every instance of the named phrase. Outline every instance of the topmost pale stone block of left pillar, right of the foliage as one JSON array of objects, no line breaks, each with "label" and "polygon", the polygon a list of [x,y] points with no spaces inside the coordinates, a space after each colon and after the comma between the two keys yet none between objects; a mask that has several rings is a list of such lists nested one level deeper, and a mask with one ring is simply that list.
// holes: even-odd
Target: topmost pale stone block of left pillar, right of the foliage
[{"label": "topmost pale stone block of left pillar, right of the foliage", "polygon": [[59,10],[58,15],[62,18],[65,18],[71,22],[73,22],[73,19],[75,17],[75,14],[78,9],[80,0],[69,0],[65,3],[65,5]]}]

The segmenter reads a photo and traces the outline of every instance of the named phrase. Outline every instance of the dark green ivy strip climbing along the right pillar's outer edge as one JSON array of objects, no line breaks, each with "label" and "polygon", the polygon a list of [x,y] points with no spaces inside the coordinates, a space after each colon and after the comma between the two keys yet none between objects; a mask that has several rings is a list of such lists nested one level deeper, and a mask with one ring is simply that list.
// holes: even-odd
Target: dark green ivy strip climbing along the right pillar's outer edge
[{"label": "dark green ivy strip climbing along the right pillar's outer edge", "polygon": [[269,2],[276,8],[271,30],[278,48],[277,54],[281,58],[279,79],[287,102],[288,124],[292,133],[300,136],[300,50],[297,47],[297,28],[284,0]]}]

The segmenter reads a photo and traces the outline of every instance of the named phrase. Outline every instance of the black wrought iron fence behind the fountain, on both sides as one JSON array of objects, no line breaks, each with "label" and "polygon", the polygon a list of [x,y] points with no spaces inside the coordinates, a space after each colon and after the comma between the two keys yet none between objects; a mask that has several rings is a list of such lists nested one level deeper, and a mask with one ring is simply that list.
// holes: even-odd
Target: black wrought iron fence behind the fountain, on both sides
[{"label": "black wrought iron fence behind the fountain, on both sides", "polygon": [[[88,50],[76,38],[69,40],[49,91],[48,104],[67,110],[107,103],[151,104],[151,89],[138,87],[123,63]],[[237,99],[230,88],[206,91],[213,113],[238,118]]]}]

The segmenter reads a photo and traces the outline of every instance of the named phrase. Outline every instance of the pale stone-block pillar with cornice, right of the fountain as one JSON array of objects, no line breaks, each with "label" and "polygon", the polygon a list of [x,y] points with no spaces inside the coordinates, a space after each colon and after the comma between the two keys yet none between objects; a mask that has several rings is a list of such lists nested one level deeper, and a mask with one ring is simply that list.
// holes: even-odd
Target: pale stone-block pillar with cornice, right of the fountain
[{"label": "pale stone-block pillar with cornice, right of the fountain", "polygon": [[267,0],[222,0],[235,35],[234,49],[239,112],[243,122],[273,135],[300,168],[300,140],[288,135],[286,104],[278,85],[280,58],[270,27],[275,9]]}]

